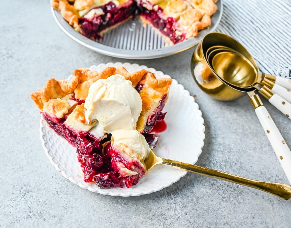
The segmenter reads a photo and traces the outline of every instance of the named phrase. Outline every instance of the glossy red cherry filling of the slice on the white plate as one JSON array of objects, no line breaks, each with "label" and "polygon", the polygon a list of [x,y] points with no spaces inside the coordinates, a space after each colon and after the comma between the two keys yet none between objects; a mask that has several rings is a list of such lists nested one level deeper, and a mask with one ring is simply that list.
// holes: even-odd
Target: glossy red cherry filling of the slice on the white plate
[{"label": "glossy red cherry filling of the slice on the white plate", "polygon": [[[162,121],[166,113],[162,112],[165,105],[166,96],[162,98],[155,112],[148,117],[146,127],[142,133],[150,147],[154,148],[157,144],[157,136],[150,134],[152,129]],[[78,161],[81,164],[84,173],[85,182],[95,182],[100,188],[123,187],[123,183],[127,188],[136,185],[139,178],[145,174],[144,167],[136,161],[128,161],[124,156],[116,151],[116,149],[107,144],[102,153],[103,144],[111,140],[111,134],[105,135],[103,138],[96,138],[90,132],[76,132],[65,125],[66,117],[57,119],[46,113],[41,113],[49,126],[60,136],[64,137],[77,152]],[[136,171],[138,174],[134,176],[120,176],[116,164],[121,162],[127,169]]]}]

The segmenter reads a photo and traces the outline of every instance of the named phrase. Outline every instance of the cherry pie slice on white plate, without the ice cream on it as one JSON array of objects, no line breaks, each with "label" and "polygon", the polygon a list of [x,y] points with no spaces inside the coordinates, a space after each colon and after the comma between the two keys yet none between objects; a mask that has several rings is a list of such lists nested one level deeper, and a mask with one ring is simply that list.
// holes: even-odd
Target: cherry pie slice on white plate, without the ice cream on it
[{"label": "cherry pie slice on white plate, without the ice cream on it", "polygon": [[157,136],[152,129],[163,123],[166,113],[162,109],[172,82],[169,78],[156,79],[147,70],[128,73],[123,67],[107,67],[101,72],[79,68],[69,82],[49,79],[42,89],[31,93],[31,98],[49,126],[76,148],[85,182],[96,183],[100,188],[123,187],[125,183],[129,188],[145,174],[145,157],[118,143],[117,133],[112,137],[110,132],[98,135],[97,121],[88,123],[85,118],[84,101],[90,86],[111,75],[122,75],[138,91],[142,109],[133,134],[140,132],[141,141],[154,148]]}]

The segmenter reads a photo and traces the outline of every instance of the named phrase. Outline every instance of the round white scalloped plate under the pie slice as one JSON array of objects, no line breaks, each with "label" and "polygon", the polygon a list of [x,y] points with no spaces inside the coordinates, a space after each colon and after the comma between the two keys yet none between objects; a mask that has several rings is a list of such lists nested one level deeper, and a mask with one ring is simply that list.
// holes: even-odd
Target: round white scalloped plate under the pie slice
[{"label": "round white scalloped plate under the pie slice", "polygon": [[[124,66],[129,72],[146,69],[155,73],[157,78],[170,78],[169,75],[164,75],[161,71],[157,71],[154,68],[130,63],[100,64],[98,66],[91,66],[89,69],[101,71],[107,66]],[[193,96],[190,96],[189,92],[182,85],[178,84],[175,79],[173,79],[169,99],[164,107],[164,111],[167,112],[165,121],[168,127],[166,131],[159,134],[159,143],[154,152],[162,158],[194,164],[198,160],[198,156],[201,154],[201,149],[204,146],[204,120]],[[138,184],[131,188],[102,189],[98,188],[95,184],[83,181],[75,148],[65,139],[56,135],[54,130],[49,128],[42,118],[40,120],[40,139],[47,157],[65,178],[68,178],[82,188],[103,195],[127,197],[150,194],[179,181],[187,173],[175,168],[158,165],[147,172],[139,180]],[[180,143],[181,141],[187,142],[187,144]]]}]

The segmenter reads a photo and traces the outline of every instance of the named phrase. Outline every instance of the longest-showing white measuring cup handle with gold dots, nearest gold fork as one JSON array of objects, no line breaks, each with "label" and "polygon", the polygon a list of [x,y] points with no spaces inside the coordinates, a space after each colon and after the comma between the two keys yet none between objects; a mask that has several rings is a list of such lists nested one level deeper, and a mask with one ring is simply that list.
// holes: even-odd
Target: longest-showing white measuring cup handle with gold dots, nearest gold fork
[{"label": "longest-showing white measuring cup handle with gold dots, nearest gold fork", "polygon": [[276,153],[276,156],[291,183],[291,151],[288,148],[285,140],[279,132],[276,124],[272,120],[265,106],[260,106],[255,109],[255,113]]}]

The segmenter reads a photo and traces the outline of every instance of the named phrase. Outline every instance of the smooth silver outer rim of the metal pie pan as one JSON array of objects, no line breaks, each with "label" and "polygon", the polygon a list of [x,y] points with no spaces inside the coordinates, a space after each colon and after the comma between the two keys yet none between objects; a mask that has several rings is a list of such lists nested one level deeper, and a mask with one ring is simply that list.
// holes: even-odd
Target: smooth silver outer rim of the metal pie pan
[{"label": "smooth silver outer rim of the metal pie pan", "polygon": [[[214,29],[217,28],[223,12],[223,3],[222,0],[219,0],[217,3],[219,3],[219,16],[217,19],[217,22],[207,30],[207,33],[211,33],[214,31]],[[100,44],[98,42],[95,42],[93,40],[90,40],[86,38],[85,36],[81,35],[77,31],[75,31],[72,26],[68,22],[66,22],[62,16],[61,13],[58,10],[55,10],[51,7],[52,14],[54,16],[54,20],[58,24],[58,26],[61,28],[61,30],[69,36],[71,39],[76,41],[77,43],[95,51],[100,54],[117,57],[117,58],[123,58],[123,59],[155,59],[160,57],[165,57],[169,55],[173,55],[185,50],[188,50],[191,47],[194,47],[197,45],[200,40],[202,40],[203,37],[196,38],[191,37],[188,40],[183,41],[182,43],[178,43],[176,45],[172,45],[169,47],[164,47],[160,49],[153,49],[153,50],[125,50],[125,49],[119,49],[115,47],[106,46],[103,44]],[[205,34],[206,35],[206,34]]]}]

